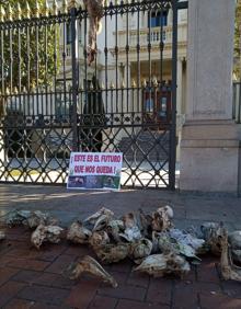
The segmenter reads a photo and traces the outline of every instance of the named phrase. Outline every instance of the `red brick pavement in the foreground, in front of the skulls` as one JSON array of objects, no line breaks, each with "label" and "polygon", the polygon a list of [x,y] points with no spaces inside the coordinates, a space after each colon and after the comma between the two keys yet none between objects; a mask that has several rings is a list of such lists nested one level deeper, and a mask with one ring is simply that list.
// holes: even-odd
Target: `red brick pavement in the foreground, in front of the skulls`
[{"label": "red brick pavement in the foreground, in front of the skulls", "polygon": [[80,309],[192,309],[241,308],[241,284],[223,282],[218,259],[206,256],[192,266],[184,279],[153,278],[131,273],[128,260],[107,265],[116,289],[95,278],[72,282],[62,276],[70,262],[94,253],[85,245],[45,244],[37,251],[30,244],[30,231],[7,230],[0,244],[0,308]]}]

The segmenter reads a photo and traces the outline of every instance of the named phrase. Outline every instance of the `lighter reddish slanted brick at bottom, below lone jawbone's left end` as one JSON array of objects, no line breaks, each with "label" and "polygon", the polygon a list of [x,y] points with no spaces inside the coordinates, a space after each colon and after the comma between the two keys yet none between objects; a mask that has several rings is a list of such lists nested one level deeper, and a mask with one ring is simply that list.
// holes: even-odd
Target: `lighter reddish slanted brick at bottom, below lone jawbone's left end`
[{"label": "lighter reddish slanted brick at bottom, below lone jawbone's left end", "polygon": [[94,299],[100,283],[96,281],[82,281],[72,288],[69,297],[66,299],[66,305],[85,309]]}]

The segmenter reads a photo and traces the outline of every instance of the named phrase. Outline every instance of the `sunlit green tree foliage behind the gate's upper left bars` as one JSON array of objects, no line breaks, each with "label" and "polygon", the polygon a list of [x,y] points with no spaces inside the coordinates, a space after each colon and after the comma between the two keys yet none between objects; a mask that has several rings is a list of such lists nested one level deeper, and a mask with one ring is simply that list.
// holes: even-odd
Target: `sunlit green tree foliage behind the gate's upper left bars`
[{"label": "sunlit green tree foliage behind the gate's upper left bars", "polygon": [[14,28],[1,31],[3,43],[4,77],[1,77],[3,91],[16,88],[22,92],[24,88],[30,90],[35,87],[50,84],[53,77],[59,68],[59,24],[39,24],[36,12],[45,10],[45,0],[28,0],[31,20],[27,21],[27,7],[25,0],[19,1],[22,12],[22,21],[18,22],[18,1],[1,1],[7,12],[4,19],[8,22],[12,8],[13,22],[18,22]]}]

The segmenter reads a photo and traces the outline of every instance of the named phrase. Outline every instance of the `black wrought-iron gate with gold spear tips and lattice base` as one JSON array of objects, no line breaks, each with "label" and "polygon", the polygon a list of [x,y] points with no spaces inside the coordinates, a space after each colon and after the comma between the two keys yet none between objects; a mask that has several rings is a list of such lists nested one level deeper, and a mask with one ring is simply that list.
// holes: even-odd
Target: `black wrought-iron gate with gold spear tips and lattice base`
[{"label": "black wrought-iron gate with gold spear tips and lattice base", "polygon": [[124,186],[175,187],[177,2],[105,1],[91,66],[76,1],[1,8],[1,182],[65,183],[71,150],[122,151]]}]

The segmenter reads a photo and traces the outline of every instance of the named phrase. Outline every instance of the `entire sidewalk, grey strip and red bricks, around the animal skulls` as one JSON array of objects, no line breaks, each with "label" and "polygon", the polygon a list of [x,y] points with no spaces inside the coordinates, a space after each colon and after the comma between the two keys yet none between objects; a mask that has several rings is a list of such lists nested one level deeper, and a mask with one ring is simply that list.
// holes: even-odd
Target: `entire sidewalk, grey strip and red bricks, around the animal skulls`
[{"label": "entire sidewalk, grey strip and red bricks, around the animal skulls", "polygon": [[[0,185],[0,221],[8,211],[47,210],[67,227],[101,206],[123,215],[138,208],[152,211],[169,204],[174,209],[177,228],[200,226],[204,221],[223,221],[229,229],[241,229],[241,199],[198,196],[165,191],[67,192],[61,186]],[[2,226],[2,224],[1,224]],[[207,256],[183,281],[152,278],[131,273],[130,261],[105,266],[116,278],[116,289],[95,279],[70,282],[61,272],[91,249],[67,242],[45,245],[36,251],[30,245],[30,231],[7,230],[0,244],[0,308],[80,308],[80,309],[192,309],[241,308],[241,283],[220,278],[219,259]]]}]

